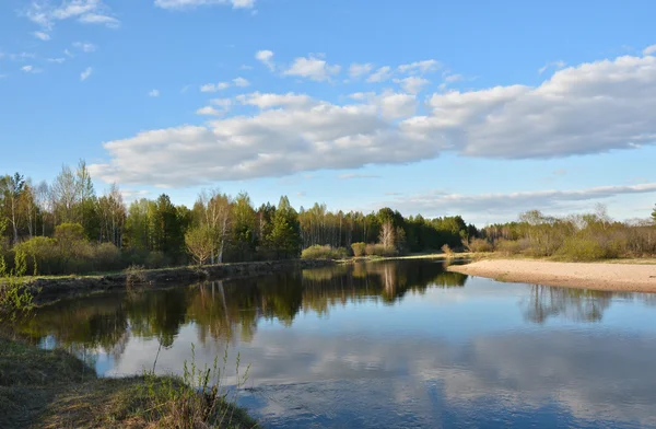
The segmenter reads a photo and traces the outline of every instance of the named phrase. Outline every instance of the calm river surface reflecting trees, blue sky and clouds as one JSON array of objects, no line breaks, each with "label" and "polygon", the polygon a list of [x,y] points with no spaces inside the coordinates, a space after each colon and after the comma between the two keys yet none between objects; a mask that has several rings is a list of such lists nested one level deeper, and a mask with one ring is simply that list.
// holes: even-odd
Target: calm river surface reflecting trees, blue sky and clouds
[{"label": "calm river surface reflecting trees, blue sky and clouds", "polygon": [[380,262],[96,297],[25,333],[99,374],[179,372],[229,346],[263,427],[656,426],[656,295]]}]

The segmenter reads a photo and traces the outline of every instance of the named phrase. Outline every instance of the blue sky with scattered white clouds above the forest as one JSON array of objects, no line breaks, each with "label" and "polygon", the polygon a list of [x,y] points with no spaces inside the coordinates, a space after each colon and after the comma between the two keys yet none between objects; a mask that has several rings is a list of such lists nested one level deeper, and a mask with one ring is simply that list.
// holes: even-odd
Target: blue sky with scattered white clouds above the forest
[{"label": "blue sky with scattered white clouds above the forest", "polygon": [[479,227],[656,204],[653,1],[2,0],[0,173]]}]

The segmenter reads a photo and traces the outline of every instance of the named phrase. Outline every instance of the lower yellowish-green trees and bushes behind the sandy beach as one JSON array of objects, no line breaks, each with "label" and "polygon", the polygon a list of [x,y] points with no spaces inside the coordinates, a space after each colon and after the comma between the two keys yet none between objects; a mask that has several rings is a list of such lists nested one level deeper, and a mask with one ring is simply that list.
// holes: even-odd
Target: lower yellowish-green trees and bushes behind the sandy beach
[{"label": "lower yellowish-green trees and bushes behind the sandy beach", "polygon": [[550,217],[527,211],[515,222],[493,224],[470,240],[473,252],[597,260],[656,255],[656,208],[652,219],[619,222],[604,206],[594,212]]}]

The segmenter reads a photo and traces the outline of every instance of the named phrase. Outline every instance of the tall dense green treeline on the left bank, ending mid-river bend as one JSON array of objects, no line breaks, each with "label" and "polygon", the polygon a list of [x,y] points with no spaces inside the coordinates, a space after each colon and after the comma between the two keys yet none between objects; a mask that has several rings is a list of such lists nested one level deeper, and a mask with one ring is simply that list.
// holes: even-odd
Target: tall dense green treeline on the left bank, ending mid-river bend
[{"label": "tall dense green treeline on the left bank, ending mid-river bend", "polygon": [[319,204],[296,210],[284,196],[255,207],[246,193],[209,190],[190,208],[165,194],[126,205],[115,185],[96,194],[84,161],[63,166],[51,183],[0,176],[2,269],[17,263],[30,274],[297,258],[317,246],[328,256],[406,254],[457,248],[476,236],[459,216],[331,212]]}]

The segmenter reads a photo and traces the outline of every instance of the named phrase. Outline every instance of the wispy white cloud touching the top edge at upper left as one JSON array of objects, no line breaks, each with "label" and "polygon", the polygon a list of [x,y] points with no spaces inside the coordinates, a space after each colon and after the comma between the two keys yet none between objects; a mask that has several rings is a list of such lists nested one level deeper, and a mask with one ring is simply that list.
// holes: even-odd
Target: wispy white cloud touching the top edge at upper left
[{"label": "wispy white cloud touching the top edge at upper left", "polygon": [[52,5],[45,0],[35,0],[24,15],[47,30],[52,28],[55,22],[65,20],[99,24],[110,28],[120,25],[120,21],[112,16],[109,8],[102,0],[63,0],[59,5]]}]

